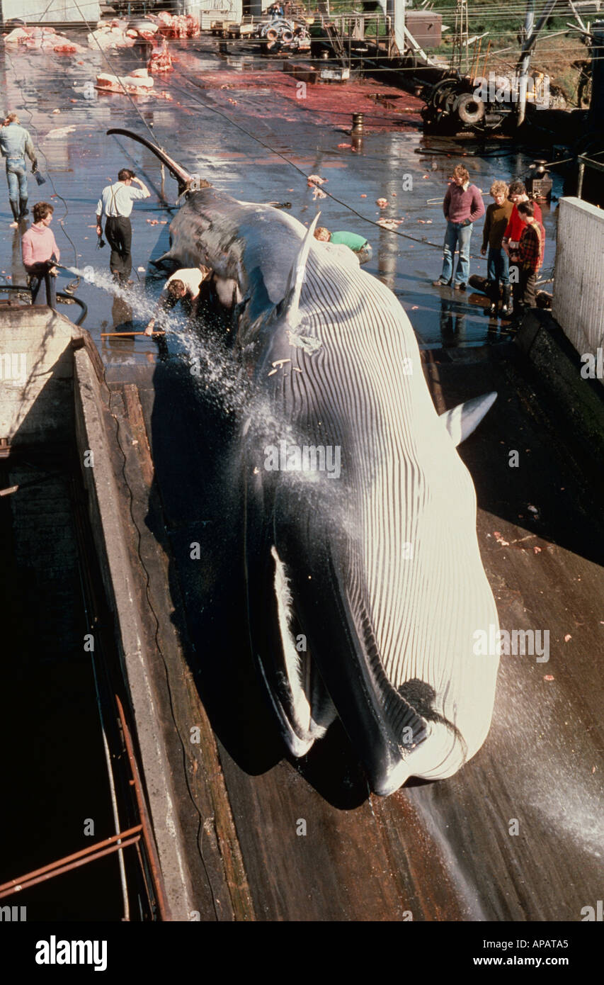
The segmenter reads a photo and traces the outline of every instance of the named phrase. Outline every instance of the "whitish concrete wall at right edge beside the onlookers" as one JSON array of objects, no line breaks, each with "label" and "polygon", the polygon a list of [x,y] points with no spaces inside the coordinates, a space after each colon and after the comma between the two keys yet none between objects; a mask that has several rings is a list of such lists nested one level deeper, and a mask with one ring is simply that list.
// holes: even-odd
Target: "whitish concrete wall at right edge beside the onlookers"
[{"label": "whitish concrete wall at right edge beside the onlookers", "polygon": [[603,257],[604,212],[561,199],[552,313],[579,356],[604,346]]}]

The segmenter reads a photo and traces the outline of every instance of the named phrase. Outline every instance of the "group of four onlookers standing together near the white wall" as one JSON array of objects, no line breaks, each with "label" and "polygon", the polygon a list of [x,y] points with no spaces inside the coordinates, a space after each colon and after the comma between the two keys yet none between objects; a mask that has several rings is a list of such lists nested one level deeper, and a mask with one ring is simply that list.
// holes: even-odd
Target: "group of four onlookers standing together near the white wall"
[{"label": "group of four onlookers standing together near the white wall", "polygon": [[[518,319],[526,308],[535,306],[535,283],[543,263],[545,230],[541,209],[531,202],[521,181],[510,185],[494,181],[491,185],[493,204],[486,210],[481,253],[487,254],[487,296],[485,314],[497,315],[500,294],[501,314],[513,310]],[[443,212],[447,220],[443,248],[443,270],[434,287],[452,284],[455,291],[465,291],[469,276],[470,237],[473,224],[485,215],[482,194],[470,184],[469,172],[463,164],[453,169]],[[459,259],[453,280],[453,255]],[[513,295],[513,308],[512,308]]]}]

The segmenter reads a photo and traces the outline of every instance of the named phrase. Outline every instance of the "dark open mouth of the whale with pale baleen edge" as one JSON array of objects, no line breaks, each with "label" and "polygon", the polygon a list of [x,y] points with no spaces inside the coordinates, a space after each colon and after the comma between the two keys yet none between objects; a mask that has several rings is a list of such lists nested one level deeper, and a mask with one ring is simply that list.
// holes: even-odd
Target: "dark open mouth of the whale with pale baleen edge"
[{"label": "dark open mouth of the whale with pale baleen edge", "polygon": [[300,567],[292,559],[302,552],[288,538],[275,540],[265,556],[264,612],[259,619],[250,605],[250,625],[281,737],[291,755],[306,755],[339,717],[371,789],[388,796],[413,775],[432,735],[433,692],[421,682],[396,689],[389,681],[369,616],[351,604],[329,542],[307,550]]}]

